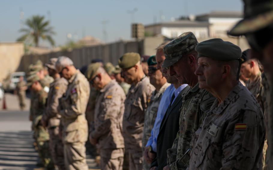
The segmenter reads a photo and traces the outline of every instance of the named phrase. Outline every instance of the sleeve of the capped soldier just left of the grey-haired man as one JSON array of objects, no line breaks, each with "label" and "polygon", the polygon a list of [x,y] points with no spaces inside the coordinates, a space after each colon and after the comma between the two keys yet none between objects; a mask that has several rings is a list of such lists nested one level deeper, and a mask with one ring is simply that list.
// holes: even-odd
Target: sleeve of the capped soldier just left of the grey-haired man
[{"label": "sleeve of the capped soldier just left of the grey-haired man", "polygon": [[58,114],[57,107],[59,105],[59,98],[63,96],[63,94],[67,90],[67,84],[64,83],[57,83],[51,88],[54,88],[54,93],[51,96],[52,97],[52,103],[47,104],[46,112],[43,115],[44,120],[49,120],[52,117],[55,117]]}]

